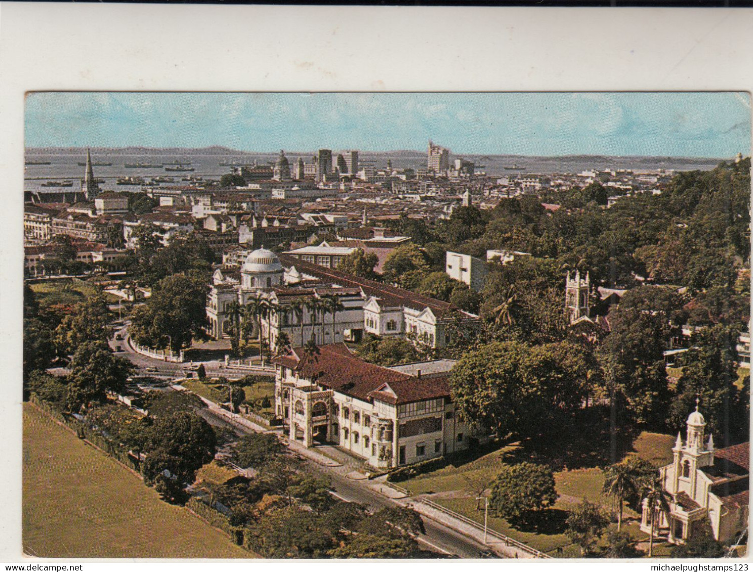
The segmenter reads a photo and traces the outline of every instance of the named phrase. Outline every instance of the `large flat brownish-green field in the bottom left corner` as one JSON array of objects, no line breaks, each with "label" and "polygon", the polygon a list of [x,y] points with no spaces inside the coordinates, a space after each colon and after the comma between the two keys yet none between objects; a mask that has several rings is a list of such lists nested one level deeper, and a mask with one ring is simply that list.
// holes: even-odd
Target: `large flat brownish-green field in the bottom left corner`
[{"label": "large flat brownish-green field in the bottom left corner", "polygon": [[253,558],[28,403],[23,549],[47,558]]}]

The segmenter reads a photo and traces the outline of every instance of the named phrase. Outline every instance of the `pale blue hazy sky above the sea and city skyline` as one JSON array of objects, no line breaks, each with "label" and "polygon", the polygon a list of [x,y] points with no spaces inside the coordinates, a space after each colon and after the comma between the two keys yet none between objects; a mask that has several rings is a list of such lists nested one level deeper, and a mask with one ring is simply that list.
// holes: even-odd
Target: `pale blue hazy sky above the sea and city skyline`
[{"label": "pale blue hazy sky above the sea and city skyline", "polygon": [[32,93],[27,147],[733,157],[748,93]]}]

